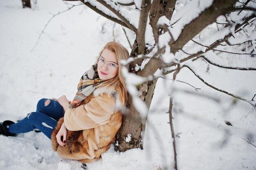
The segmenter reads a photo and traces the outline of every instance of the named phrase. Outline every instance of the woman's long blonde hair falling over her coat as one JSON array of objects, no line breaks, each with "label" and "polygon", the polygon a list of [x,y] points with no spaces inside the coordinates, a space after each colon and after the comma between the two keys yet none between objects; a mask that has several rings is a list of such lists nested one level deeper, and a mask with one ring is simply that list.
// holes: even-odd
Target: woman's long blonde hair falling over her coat
[{"label": "woman's long blonde hair falling over her coat", "polygon": [[[109,80],[103,82],[102,84],[100,84],[99,88],[108,87],[108,86],[114,87],[119,92],[119,96],[121,97],[121,102],[124,105],[126,105],[127,88],[126,88],[126,83],[125,83],[124,77],[121,74],[121,70],[122,70],[123,66],[120,63],[120,61],[127,60],[129,57],[129,53],[124,46],[122,46],[119,42],[115,42],[115,41],[108,42],[103,47],[101,52],[99,53],[99,56],[101,56],[101,54],[103,53],[103,51],[105,49],[108,49],[115,53],[115,57],[117,58],[117,62],[118,62],[117,63],[118,64],[118,73],[114,78],[109,79]],[[96,64],[98,63],[98,61],[99,61],[99,59],[97,60]]]}]

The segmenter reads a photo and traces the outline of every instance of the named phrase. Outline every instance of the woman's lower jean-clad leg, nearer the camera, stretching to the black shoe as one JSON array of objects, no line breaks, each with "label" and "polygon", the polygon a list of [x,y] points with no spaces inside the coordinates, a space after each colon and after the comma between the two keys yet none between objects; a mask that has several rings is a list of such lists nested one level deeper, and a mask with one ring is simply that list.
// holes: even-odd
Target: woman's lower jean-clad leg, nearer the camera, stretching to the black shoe
[{"label": "woman's lower jean-clad leg, nearer the camera, stretching to the black shoe", "polygon": [[24,119],[18,121],[16,124],[9,125],[9,132],[26,133],[34,129],[38,129],[51,139],[52,131],[57,125],[57,121],[40,112],[31,112]]}]

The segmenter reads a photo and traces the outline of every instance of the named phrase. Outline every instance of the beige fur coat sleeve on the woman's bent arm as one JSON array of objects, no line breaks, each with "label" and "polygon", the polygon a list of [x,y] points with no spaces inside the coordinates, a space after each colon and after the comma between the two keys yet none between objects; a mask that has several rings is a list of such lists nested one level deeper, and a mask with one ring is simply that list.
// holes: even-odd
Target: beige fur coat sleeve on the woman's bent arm
[{"label": "beige fur coat sleeve on the woman's bent arm", "polygon": [[114,97],[103,94],[91,99],[87,104],[68,109],[64,115],[67,130],[85,130],[95,128],[109,122],[115,112]]}]

